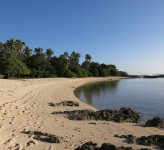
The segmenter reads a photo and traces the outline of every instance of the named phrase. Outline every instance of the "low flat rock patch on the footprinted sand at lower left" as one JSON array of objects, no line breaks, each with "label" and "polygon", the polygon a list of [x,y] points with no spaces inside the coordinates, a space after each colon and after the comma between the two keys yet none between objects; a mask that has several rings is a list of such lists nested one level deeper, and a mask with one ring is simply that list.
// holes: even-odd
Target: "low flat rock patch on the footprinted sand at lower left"
[{"label": "low flat rock patch on the footprinted sand at lower left", "polygon": [[42,142],[47,142],[47,143],[61,143],[63,141],[62,137],[53,135],[53,134],[48,134],[48,133],[42,133],[40,131],[22,131],[21,133],[24,134],[29,134],[29,135],[34,135],[33,139],[42,141]]}]

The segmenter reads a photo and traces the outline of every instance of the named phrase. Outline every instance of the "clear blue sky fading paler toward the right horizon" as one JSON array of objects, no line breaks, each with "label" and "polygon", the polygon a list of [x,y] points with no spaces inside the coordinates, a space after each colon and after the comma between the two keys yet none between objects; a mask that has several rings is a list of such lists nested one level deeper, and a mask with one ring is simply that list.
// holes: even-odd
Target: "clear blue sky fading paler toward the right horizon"
[{"label": "clear blue sky fading paler toward the right horizon", "polygon": [[[164,0],[1,0],[0,41],[77,51],[129,74],[164,73]],[[83,59],[82,59],[83,60]]]}]

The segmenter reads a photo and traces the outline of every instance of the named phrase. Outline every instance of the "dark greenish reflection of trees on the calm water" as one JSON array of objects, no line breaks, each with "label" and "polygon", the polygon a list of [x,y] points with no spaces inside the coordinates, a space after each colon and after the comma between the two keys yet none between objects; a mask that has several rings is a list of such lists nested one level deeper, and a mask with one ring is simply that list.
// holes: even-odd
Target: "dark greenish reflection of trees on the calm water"
[{"label": "dark greenish reflection of trees on the calm water", "polygon": [[116,93],[118,85],[119,81],[89,83],[77,88],[75,90],[75,95],[82,100],[86,100],[88,104],[93,105],[95,96],[97,99],[101,100],[103,95],[107,93]]}]

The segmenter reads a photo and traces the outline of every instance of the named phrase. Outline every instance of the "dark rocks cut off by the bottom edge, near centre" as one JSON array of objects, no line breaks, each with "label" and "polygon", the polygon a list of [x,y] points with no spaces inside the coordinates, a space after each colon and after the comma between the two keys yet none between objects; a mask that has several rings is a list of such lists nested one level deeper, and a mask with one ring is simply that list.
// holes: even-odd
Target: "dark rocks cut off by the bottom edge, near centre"
[{"label": "dark rocks cut off by the bottom edge, near centre", "polygon": [[[133,148],[132,147],[124,147],[124,146],[117,147],[110,143],[103,143],[101,145],[101,147],[98,147],[97,143],[93,143],[90,141],[90,142],[84,143],[83,145],[79,146],[75,150],[133,150]],[[149,150],[149,149],[143,148],[140,150]]]}]

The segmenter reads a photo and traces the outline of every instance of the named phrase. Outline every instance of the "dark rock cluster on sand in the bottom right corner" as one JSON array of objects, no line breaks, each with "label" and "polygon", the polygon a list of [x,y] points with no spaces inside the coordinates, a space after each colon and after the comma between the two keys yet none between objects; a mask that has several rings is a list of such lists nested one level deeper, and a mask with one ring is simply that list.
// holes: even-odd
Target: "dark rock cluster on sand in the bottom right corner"
[{"label": "dark rock cluster on sand in the bottom right corner", "polygon": [[129,144],[138,144],[138,145],[158,145],[164,148],[164,135],[150,135],[150,136],[141,136],[139,138],[133,135],[115,135],[115,137],[125,138]]}]

